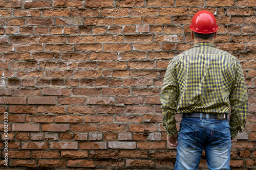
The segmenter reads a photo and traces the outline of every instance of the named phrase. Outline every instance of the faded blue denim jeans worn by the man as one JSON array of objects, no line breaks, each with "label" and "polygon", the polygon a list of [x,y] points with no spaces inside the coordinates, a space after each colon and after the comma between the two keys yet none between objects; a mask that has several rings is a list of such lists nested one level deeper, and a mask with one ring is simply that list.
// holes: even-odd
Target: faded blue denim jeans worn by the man
[{"label": "faded blue denim jeans worn by the man", "polygon": [[231,136],[228,119],[182,118],[175,169],[198,169],[203,149],[210,170],[230,169]]}]

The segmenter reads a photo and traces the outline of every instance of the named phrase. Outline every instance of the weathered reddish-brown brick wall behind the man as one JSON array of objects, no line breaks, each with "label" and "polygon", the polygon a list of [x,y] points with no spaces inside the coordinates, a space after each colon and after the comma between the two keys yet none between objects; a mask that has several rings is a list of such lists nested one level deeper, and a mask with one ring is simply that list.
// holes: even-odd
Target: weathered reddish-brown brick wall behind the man
[{"label": "weathered reddish-brown brick wall behind the man", "polygon": [[255,169],[256,1],[8,0],[0,8],[8,167],[174,169],[159,94],[169,60],[193,45],[192,16],[207,9],[219,24],[216,46],[238,57],[248,86],[246,130],[230,165]]}]

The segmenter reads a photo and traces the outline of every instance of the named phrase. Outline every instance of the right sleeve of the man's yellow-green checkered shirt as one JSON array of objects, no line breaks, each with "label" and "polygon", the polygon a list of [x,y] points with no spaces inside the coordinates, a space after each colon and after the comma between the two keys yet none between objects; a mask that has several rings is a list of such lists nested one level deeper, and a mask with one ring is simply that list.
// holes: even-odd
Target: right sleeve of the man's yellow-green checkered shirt
[{"label": "right sleeve of the man's yellow-green checkered shirt", "polygon": [[236,79],[229,95],[231,106],[229,125],[230,134],[233,138],[237,137],[238,132],[242,132],[244,130],[248,113],[248,95],[245,79],[241,64],[238,60],[236,67]]}]

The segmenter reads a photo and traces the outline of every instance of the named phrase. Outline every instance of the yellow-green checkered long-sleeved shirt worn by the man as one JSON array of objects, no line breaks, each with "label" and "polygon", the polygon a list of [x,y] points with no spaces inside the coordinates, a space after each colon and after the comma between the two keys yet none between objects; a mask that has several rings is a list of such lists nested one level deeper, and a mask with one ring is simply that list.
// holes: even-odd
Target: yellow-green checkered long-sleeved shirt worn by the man
[{"label": "yellow-green checkered long-sleeved shirt worn by the man", "polygon": [[233,138],[245,128],[248,96],[239,60],[200,42],[170,60],[160,100],[167,136],[178,133],[176,113],[230,113]]}]

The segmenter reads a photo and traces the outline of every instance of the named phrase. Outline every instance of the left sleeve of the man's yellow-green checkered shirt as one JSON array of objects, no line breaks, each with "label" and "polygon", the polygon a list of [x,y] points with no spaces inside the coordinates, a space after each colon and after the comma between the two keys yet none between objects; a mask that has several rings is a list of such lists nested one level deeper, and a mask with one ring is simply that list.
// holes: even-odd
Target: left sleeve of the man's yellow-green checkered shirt
[{"label": "left sleeve of the man's yellow-green checkered shirt", "polygon": [[167,136],[178,133],[176,128],[175,115],[177,113],[178,81],[175,73],[175,59],[170,60],[165,72],[163,86],[160,93],[162,103],[163,128]]}]

